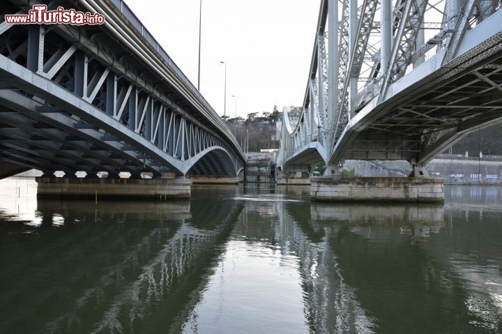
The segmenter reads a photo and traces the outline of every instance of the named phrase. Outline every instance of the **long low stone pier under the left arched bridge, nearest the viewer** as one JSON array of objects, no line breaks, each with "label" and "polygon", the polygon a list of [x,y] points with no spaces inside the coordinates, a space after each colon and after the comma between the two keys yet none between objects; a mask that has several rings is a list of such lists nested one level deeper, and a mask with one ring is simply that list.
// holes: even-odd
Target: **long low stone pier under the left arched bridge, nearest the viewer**
[{"label": "long low stone pier under the left arched bridge, nearest the viewer", "polygon": [[[89,176],[89,174],[88,174]],[[190,179],[36,178],[38,197],[178,199],[190,198]]]}]

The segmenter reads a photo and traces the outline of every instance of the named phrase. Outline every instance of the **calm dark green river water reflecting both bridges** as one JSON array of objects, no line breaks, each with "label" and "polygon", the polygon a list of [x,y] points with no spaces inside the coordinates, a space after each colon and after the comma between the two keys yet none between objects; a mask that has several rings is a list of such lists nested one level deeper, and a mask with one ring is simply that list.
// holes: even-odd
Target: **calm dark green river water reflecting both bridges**
[{"label": "calm dark green river water reflecting both bridges", "polygon": [[325,204],[307,189],[36,199],[0,181],[0,333],[502,333],[502,188]]}]

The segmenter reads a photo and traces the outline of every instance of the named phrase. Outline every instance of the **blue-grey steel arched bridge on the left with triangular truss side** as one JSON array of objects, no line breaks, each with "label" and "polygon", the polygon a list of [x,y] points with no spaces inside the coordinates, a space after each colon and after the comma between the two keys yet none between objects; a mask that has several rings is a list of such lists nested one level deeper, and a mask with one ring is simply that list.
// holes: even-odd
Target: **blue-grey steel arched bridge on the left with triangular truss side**
[{"label": "blue-grey steel arched bridge on the left with triangular truss side", "polygon": [[236,176],[229,128],[122,0],[38,1],[102,25],[7,24],[0,3],[0,160],[45,174]]}]

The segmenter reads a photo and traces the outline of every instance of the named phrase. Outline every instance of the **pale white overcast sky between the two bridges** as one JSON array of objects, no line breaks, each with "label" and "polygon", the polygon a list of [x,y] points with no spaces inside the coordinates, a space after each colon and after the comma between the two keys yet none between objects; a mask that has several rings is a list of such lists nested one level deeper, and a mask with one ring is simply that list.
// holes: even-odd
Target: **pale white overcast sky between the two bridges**
[{"label": "pale white overcast sky between the two bridges", "polygon": [[[153,37],[197,86],[199,0],[126,0]],[[301,105],[320,0],[202,0],[202,95],[227,115]]]}]

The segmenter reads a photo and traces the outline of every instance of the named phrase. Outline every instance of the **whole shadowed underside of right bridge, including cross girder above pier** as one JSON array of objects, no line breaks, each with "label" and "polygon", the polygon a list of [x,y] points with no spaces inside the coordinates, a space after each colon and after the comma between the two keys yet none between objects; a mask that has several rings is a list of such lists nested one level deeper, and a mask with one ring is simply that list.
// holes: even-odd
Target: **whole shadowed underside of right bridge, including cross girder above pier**
[{"label": "whole shadowed underside of right bridge, including cross girder above pier", "polygon": [[[502,58],[496,54],[422,95],[393,106],[358,132],[346,158],[411,160],[441,150],[502,117]],[[448,139],[448,140],[446,140]],[[422,153],[420,153],[422,152]],[[427,157],[428,159],[429,157]]]}]

